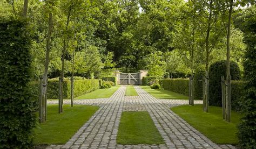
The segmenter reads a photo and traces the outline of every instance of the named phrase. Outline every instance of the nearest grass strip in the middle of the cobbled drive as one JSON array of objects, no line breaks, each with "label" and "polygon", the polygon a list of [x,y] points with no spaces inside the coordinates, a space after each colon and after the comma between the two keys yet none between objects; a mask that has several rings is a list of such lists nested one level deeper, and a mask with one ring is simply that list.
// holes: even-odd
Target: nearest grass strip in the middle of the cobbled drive
[{"label": "nearest grass strip in the middle of the cobbled drive", "polygon": [[149,113],[123,112],[117,134],[117,144],[165,144]]}]

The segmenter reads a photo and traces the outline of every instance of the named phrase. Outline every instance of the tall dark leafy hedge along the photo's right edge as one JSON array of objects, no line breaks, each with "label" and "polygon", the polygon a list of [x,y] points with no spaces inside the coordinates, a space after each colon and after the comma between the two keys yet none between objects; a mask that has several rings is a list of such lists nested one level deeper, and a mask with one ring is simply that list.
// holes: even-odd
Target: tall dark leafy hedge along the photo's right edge
[{"label": "tall dark leafy hedge along the photo's right edge", "polygon": [[255,148],[256,146],[256,6],[253,5],[237,18],[239,28],[245,33],[245,96],[242,98],[241,109],[244,116],[238,126],[239,146]]}]

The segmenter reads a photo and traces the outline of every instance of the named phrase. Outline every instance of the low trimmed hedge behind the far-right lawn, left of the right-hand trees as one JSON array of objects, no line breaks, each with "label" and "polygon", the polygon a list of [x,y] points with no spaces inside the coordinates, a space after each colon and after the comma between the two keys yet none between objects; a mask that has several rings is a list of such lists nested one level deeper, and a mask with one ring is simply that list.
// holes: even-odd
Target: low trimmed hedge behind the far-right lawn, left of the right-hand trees
[{"label": "low trimmed hedge behind the far-right lawn, left of the right-hand trees", "polygon": [[161,88],[164,90],[174,91],[179,94],[188,96],[189,79],[162,79],[159,80]]}]

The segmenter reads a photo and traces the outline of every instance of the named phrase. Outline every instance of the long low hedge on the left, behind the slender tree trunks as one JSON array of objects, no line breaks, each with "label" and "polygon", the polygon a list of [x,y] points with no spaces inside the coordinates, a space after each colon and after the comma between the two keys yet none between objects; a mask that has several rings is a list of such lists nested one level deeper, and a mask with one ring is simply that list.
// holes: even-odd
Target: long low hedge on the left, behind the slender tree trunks
[{"label": "long low hedge on the left, behind the slender tree trunks", "polygon": [[[63,98],[70,98],[70,87],[71,82],[68,79],[63,81]],[[39,95],[39,82],[30,82],[30,88],[33,95],[38,97]],[[48,80],[48,99],[57,99],[59,94],[59,79],[49,79]],[[74,81],[74,95],[75,97],[89,93],[93,90],[99,89],[99,80],[96,79],[84,79]]]}]

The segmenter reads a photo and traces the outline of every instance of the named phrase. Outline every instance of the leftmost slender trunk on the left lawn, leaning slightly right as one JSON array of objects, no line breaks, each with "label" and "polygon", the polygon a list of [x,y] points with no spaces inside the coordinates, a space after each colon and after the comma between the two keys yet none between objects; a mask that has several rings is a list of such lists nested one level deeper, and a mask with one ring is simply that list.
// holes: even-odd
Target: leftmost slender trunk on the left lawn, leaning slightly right
[{"label": "leftmost slender trunk on the left lawn, leaning slightly right", "polygon": [[46,120],[46,91],[47,91],[47,74],[48,74],[48,68],[50,63],[50,49],[51,49],[51,33],[52,33],[52,13],[49,13],[49,21],[48,21],[48,34],[46,39],[46,53],[45,53],[45,62],[44,62],[44,75],[43,75],[43,81],[42,81],[42,102],[41,107],[42,111],[39,111],[41,113],[41,117],[39,117],[39,122],[44,122]]}]

